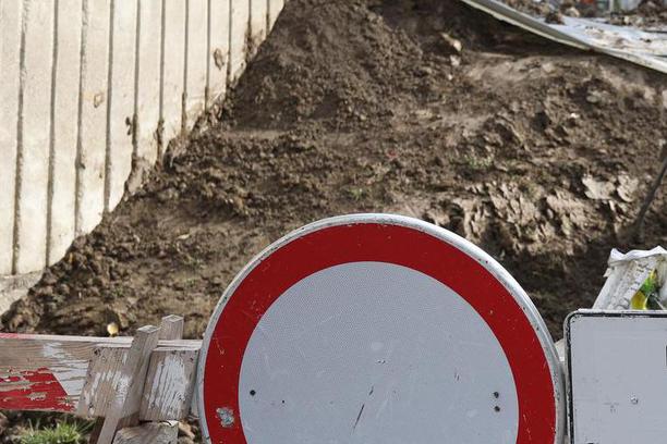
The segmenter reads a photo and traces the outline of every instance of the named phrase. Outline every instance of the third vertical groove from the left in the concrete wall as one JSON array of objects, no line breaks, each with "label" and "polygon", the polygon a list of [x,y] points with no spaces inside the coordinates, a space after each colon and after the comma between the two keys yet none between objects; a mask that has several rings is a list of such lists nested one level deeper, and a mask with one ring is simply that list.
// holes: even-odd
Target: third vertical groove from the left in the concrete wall
[{"label": "third vertical groove from the left in the concrete wall", "polygon": [[83,100],[84,100],[84,73],[86,71],[86,38],[88,28],[88,0],[83,0],[81,3],[81,51],[78,65],[78,109],[76,114],[76,161],[75,170],[75,189],[76,198],[74,199],[74,236],[78,237],[82,234],[82,211],[81,200],[83,196],[83,177],[81,174],[81,165],[83,163],[83,140],[81,126],[83,123]]}]

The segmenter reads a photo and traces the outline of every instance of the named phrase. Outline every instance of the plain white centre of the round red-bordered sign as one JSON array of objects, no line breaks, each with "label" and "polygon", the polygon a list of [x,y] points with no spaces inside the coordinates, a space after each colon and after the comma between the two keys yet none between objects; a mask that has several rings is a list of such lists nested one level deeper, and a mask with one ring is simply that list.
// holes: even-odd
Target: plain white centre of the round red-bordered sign
[{"label": "plain white centre of the round red-bordered sign", "polygon": [[252,334],[239,405],[248,444],[516,443],[519,423],[507,357],[482,317],[433,278],[384,262],[284,292]]}]

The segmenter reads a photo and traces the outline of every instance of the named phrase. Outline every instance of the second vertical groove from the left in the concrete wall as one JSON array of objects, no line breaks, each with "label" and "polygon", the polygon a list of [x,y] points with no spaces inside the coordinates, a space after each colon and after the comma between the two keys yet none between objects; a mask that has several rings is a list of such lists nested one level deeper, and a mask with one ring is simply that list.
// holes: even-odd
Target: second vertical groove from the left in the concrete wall
[{"label": "second vertical groove from the left in the concrete wall", "polygon": [[49,122],[49,177],[47,181],[47,232],[46,232],[46,263],[51,263],[51,246],[53,245],[53,182],[56,170],[56,91],[58,90],[58,8],[60,0],[53,1],[53,51],[51,54],[51,110]]}]

